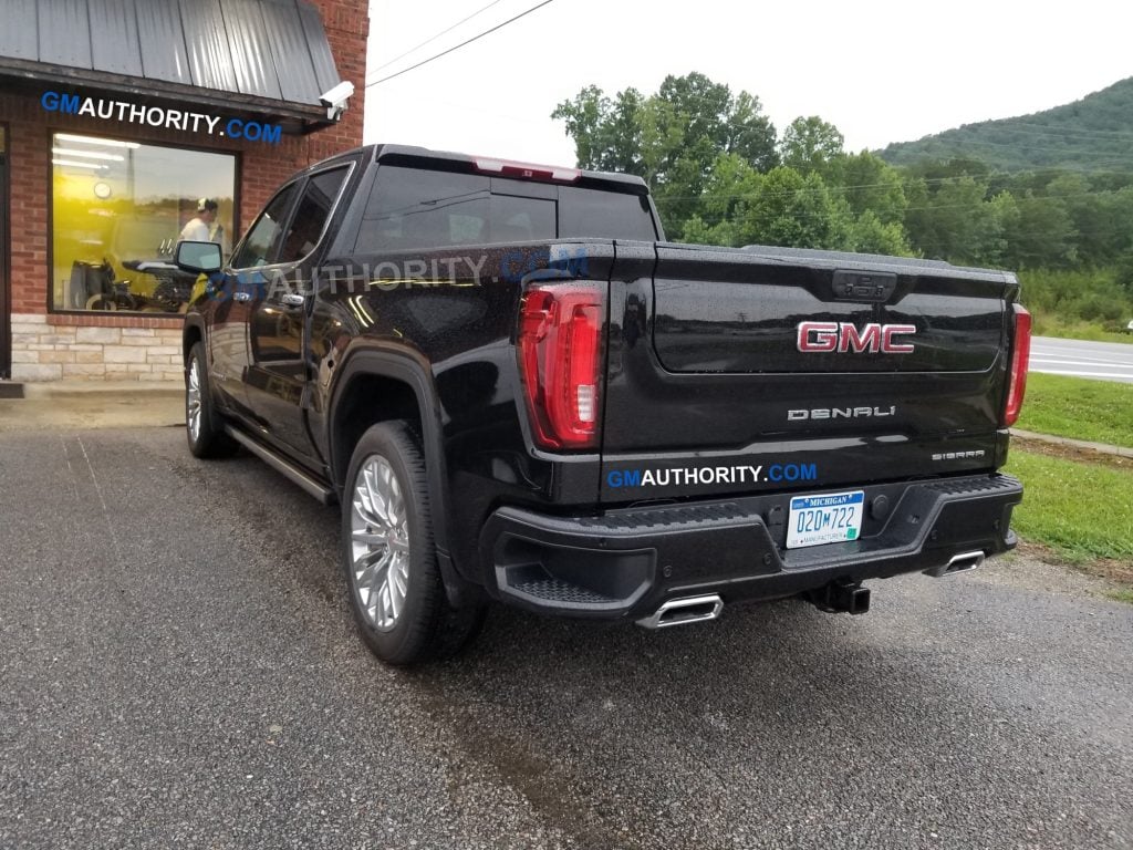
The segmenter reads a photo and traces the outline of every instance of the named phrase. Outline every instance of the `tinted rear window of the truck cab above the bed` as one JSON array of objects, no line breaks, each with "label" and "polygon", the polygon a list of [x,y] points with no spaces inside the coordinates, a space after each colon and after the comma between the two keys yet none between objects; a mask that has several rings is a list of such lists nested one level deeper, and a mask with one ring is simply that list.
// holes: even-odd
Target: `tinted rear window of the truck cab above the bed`
[{"label": "tinted rear window of the truck cab above the bed", "polygon": [[382,165],[363,216],[358,253],[548,240],[655,239],[634,195]]}]

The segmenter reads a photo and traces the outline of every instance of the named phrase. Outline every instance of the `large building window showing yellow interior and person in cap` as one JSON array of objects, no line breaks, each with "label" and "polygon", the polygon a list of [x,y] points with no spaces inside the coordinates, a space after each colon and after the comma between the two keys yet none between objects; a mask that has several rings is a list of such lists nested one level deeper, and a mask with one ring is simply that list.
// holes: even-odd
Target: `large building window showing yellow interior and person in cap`
[{"label": "large building window showing yellow interior and person in cap", "polygon": [[197,286],[171,262],[181,233],[231,252],[235,156],[57,133],[51,162],[54,309],[181,313]]}]

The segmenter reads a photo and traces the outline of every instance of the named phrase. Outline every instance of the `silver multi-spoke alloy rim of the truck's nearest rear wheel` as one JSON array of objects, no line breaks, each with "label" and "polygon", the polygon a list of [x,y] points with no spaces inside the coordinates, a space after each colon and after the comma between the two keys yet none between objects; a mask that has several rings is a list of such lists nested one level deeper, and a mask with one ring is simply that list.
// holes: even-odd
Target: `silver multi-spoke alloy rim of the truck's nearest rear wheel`
[{"label": "silver multi-spoke alloy rim of the truck's nearest rear wheel", "polygon": [[385,458],[367,458],[350,508],[350,576],[369,622],[391,630],[406,606],[409,528],[401,484]]}]

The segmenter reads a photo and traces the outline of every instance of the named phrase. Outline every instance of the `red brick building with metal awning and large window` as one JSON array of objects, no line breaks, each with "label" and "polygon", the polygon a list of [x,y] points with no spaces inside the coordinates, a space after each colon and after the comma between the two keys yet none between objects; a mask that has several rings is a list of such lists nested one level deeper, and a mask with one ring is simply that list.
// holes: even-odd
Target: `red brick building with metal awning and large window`
[{"label": "red brick building with metal awning and large window", "polygon": [[172,247],[361,144],[366,0],[3,6],[0,380],[179,380]]}]

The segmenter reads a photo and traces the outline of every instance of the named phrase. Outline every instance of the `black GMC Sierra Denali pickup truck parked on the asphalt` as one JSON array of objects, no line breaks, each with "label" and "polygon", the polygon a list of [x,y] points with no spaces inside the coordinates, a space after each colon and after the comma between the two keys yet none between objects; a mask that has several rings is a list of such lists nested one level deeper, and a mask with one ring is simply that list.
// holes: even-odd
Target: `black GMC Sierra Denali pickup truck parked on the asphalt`
[{"label": "black GMC Sierra Denali pickup truck parked on the asphalt", "polygon": [[637,178],[370,146],[296,175],[185,322],[189,449],[342,504],[382,658],[485,606],[715,619],[1015,545],[1014,275],[666,243]]}]

